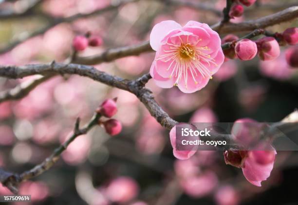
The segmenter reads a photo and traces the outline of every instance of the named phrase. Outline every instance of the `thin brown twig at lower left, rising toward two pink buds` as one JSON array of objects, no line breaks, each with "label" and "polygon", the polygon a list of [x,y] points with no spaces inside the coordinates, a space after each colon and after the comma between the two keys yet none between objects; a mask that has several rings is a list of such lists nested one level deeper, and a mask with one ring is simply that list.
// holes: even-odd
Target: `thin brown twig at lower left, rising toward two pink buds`
[{"label": "thin brown twig at lower left, rising toward two pink buds", "polygon": [[49,157],[47,157],[44,161],[36,165],[31,170],[24,171],[20,174],[16,174],[0,169],[0,183],[3,184],[5,187],[9,188],[9,190],[11,190],[13,193],[17,194],[17,186],[19,185],[19,183],[36,177],[53,167],[60,158],[62,152],[67,149],[69,144],[73,142],[76,137],[87,134],[88,131],[90,131],[93,128],[93,126],[95,126],[98,123],[99,118],[100,115],[98,113],[95,113],[93,115],[93,118],[81,129],[79,128],[80,120],[78,118],[75,122],[75,129],[72,136],[59,147],[57,147]]}]

